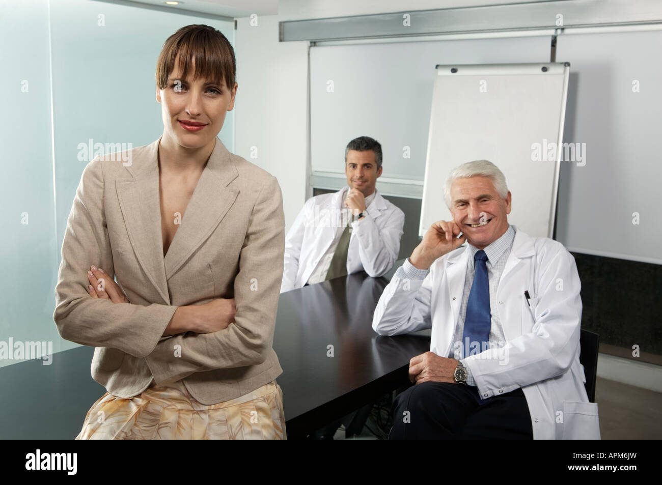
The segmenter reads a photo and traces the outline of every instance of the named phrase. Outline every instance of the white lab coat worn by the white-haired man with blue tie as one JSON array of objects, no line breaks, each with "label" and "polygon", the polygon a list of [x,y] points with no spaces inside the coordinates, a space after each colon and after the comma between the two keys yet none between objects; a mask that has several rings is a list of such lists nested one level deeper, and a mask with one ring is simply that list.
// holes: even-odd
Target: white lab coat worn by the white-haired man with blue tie
[{"label": "white lab coat worn by the white-haired man with blue tie", "polygon": [[[430,351],[448,357],[468,257],[466,246],[451,251],[434,261],[423,281],[394,276],[377,304],[373,329],[397,335],[432,327]],[[575,259],[561,243],[516,230],[491,309],[506,343],[500,351],[466,358],[484,398],[522,388],[534,439],[600,439],[598,405],[587,398],[579,363],[580,288]]]}]

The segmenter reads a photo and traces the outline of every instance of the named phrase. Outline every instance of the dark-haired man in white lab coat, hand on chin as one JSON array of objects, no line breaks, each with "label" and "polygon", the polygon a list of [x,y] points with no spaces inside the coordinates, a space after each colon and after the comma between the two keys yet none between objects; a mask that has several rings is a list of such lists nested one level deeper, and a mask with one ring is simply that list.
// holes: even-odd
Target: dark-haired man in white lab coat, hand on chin
[{"label": "dark-haired man in white lab coat, hand on chin", "polygon": [[381,162],[381,145],[373,138],[348,144],[348,187],[309,198],[287,233],[281,293],[363,270],[380,277],[393,267],[404,212],[375,188]]}]

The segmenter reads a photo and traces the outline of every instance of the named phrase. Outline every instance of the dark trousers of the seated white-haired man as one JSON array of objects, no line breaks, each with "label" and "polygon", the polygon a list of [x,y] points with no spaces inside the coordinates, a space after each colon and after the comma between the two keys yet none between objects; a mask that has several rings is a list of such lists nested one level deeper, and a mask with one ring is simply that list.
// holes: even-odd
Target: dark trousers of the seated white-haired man
[{"label": "dark trousers of the seated white-haired man", "polygon": [[533,439],[522,389],[481,400],[476,386],[422,382],[393,402],[389,439]]}]

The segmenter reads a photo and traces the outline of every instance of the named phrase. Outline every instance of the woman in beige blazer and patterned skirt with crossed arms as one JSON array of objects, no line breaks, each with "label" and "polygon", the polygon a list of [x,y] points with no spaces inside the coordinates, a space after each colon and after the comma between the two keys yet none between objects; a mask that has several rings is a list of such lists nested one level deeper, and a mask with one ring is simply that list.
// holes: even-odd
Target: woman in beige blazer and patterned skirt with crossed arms
[{"label": "woman in beige blazer and patterned skirt with crossed arms", "polygon": [[108,392],[77,439],[286,437],[271,346],[283,202],[275,177],[216,138],[235,76],[223,34],[180,28],[156,67],[162,136],[83,170],[54,320],[96,347]]}]

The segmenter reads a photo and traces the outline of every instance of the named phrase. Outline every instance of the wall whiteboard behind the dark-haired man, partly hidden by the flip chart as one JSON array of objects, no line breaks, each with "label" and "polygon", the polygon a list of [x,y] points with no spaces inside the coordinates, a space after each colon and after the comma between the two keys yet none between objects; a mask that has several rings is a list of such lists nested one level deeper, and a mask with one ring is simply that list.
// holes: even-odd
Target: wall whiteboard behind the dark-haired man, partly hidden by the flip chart
[{"label": "wall whiteboard behind the dark-haired man, partly hidden by the flip chart", "polygon": [[311,47],[312,173],[344,180],[345,146],[367,135],[382,146],[377,189],[387,192],[386,179],[415,181],[411,197],[422,198],[435,64],[540,62],[549,59],[549,42],[545,35]]}]

